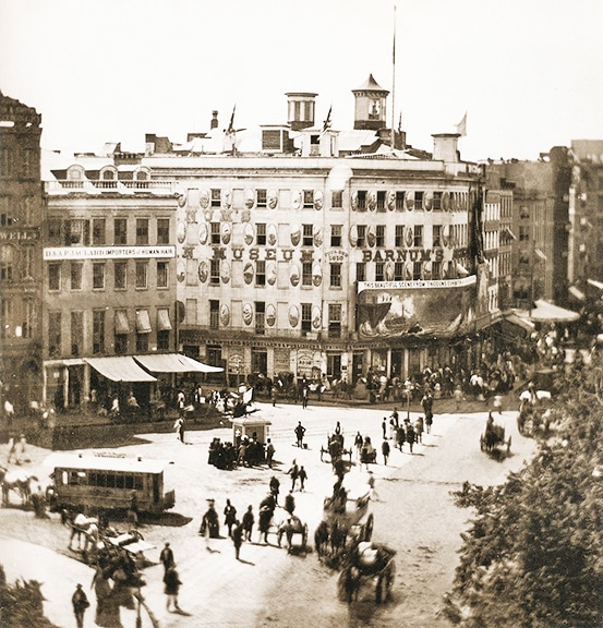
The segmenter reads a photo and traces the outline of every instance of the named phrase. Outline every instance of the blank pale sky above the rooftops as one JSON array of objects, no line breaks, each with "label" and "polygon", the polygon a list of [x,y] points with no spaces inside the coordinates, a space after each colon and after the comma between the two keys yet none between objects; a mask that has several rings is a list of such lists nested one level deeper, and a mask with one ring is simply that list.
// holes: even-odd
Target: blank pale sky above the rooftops
[{"label": "blank pale sky above the rooftops", "polygon": [[467,113],[462,159],[538,159],[603,138],[601,24],[603,0],[0,0],[0,89],[73,153],[182,143],[214,109],[286,123],[287,92],[351,129],[373,74],[413,147]]}]

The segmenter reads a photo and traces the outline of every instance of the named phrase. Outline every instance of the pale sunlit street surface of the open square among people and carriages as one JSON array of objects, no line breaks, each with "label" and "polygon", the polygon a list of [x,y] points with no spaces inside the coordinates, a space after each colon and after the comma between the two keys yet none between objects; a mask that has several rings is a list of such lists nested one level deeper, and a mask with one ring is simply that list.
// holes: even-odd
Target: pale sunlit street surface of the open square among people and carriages
[{"label": "pale sunlit street surface of the open square among people and carriages", "polygon": [[[437,407],[431,434],[411,455],[408,445],[400,452],[393,448],[387,467],[381,456],[382,421],[391,408],[352,409],[310,406],[258,403],[262,418],[272,421],[272,438],[276,447],[273,471],[264,468],[239,468],[221,471],[207,463],[209,443],[214,437],[232,439],[232,431],[222,428],[186,433],[180,443],[174,433],[150,434],[138,445],[113,449],[128,456],[172,461],[166,472],[166,483],[176,488],[176,507],[162,520],[144,524],[141,532],[155,548],[146,557],[158,561],[164,543],[169,541],[183,584],[180,592],[182,614],[168,613],[162,592],[162,567],[144,570],[147,585],[143,588],[145,607],[142,626],[153,628],[231,627],[255,628],[328,628],[328,627],[448,627],[439,614],[442,596],[450,589],[460,532],[467,528],[471,512],[454,506],[450,491],[468,480],[479,484],[502,483],[507,473],[521,467],[535,450],[531,439],[517,432],[516,412],[495,415],[511,435],[511,455],[498,461],[480,450],[486,412],[438,414]],[[400,412],[400,421],[406,412]],[[417,418],[411,413],[411,420]],[[294,446],[293,428],[301,420],[306,427],[307,449]],[[375,518],[373,540],[396,550],[396,580],[390,599],[375,603],[374,582],[363,583],[359,600],[348,607],[337,599],[337,572],[323,566],[313,550],[313,534],[322,519],[323,499],[330,495],[335,478],[330,464],[321,462],[321,447],[340,421],[345,446],[352,447],[360,431],[371,436],[379,454],[371,466],[376,479],[376,495],[372,500]],[[0,447],[5,460],[7,445]],[[49,469],[45,459],[50,452],[29,447],[29,462],[22,468],[47,483]],[[270,475],[281,482],[279,504],[290,487],[287,471],[293,459],[307,471],[306,490],[296,491],[296,514],[307,523],[309,548],[305,554],[289,555],[279,548],[274,535],[269,544],[260,543],[254,528],[252,543],[243,543],[240,560],[221,526],[221,539],[206,546],[198,529],[207,499],[216,500],[221,515],[226,498],[242,517],[248,505],[253,506],[256,526],[260,502],[265,497]],[[11,466],[12,467],[12,466]],[[366,473],[354,464],[346,484],[366,482]],[[35,578],[44,582],[48,617],[61,627],[74,626],[70,599],[76,582],[82,582],[92,607],[85,626],[94,626],[94,592],[89,589],[93,570],[77,560],[68,550],[69,531],[58,515],[37,520],[33,512],[16,507],[0,509],[0,563],[9,580]],[[278,511],[277,511],[278,512]],[[125,522],[116,522],[125,527]],[[134,611],[123,609],[124,627],[135,626]]]}]

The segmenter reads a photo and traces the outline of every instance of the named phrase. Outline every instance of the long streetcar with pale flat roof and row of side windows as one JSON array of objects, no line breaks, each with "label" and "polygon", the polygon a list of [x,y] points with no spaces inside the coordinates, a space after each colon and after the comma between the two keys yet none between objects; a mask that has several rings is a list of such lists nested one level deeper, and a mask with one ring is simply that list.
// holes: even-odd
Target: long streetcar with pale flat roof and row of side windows
[{"label": "long streetcar with pale flat roof and row of side windows", "polygon": [[129,510],[162,512],[176,503],[174,491],[166,491],[167,462],[141,457],[92,454],[53,454],[48,462],[53,509]]}]

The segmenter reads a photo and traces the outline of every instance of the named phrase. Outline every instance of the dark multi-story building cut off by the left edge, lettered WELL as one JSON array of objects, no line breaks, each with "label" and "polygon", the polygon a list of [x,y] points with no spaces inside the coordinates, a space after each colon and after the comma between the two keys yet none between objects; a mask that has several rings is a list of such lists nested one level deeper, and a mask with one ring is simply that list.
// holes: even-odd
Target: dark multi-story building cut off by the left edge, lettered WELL
[{"label": "dark multi-story building cut off by the left edge, lettered WELL", "polygon": [[0,93],[0,396],[20,412],[41,389],[41,116]]}]

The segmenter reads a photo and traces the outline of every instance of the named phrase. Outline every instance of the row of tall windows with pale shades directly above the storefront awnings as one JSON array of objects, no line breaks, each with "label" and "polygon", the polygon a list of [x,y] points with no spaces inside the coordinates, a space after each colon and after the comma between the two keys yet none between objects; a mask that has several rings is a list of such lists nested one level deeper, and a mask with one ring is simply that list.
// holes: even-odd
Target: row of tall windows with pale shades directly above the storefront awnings
[{"label": "row of tall windows with pale shades directly above the storefront awnings", "polygon": [[[166,351],[171,349],[171,324],[169,322],[169,311],[167,309],[157,310],[156,321],[157,349]],[[69,338],[63,338],[64,331],[69,330]],[[109,347],[108,338],[108,312],[106,310],[92,311],[92,352],[94,354],[105,353]],[[117,355],[124,355],[134,349],[138,353],[149,350],[150,323],[148,310],[136,311],[136,323],[131,324],[126,310],[116,310],[113,312],[113,351]],[[85,340],[89,339],[89,334],[85,334],[85,313],[73,311],[69,313],[68,327],[63,329],[63,313],[48,313],[48,354],[51,358],[59,358],[63,352],[63,340],[70,342],[67,354],[77,357],[89,352],[89,347],[85,346]],[[89,341],[89,340],[88,340]],[[131,346],[133,341],[133,347]]]}]

